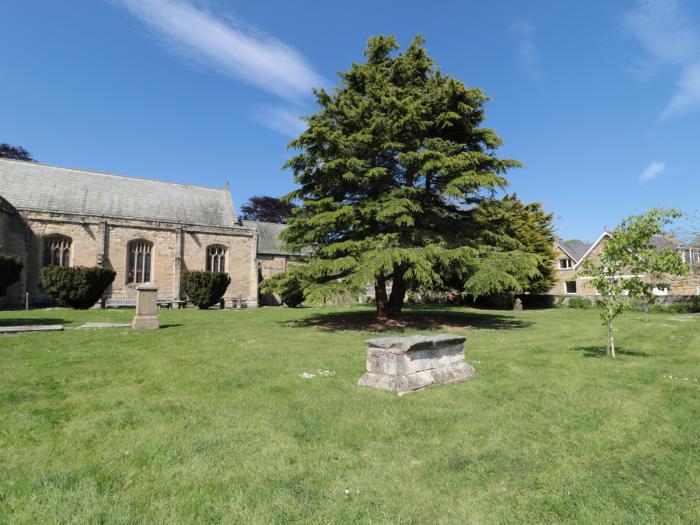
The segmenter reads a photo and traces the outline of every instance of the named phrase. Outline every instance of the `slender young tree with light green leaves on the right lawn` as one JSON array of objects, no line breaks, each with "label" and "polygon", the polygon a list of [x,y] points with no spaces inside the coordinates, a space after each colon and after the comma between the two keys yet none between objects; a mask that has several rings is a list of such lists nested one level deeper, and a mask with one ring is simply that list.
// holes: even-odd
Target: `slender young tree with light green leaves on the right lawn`
[{"label": "slender young tree with light green leaves on the right lawn", "polygon": [[628,217],[605,241],[598,260],[584,260],[583,275],[591,278],[589,284],[601,296],[596,304],[601,321],[608,325],[608,353],[612,357],[615,357],[612,323],[624,310],[627,297],[651,302],[654,288],[668,289],[665,277],[688,271],[683,258],[672,248],[657,248],[651,242],[680,215],[677,210],[654,208]]}]

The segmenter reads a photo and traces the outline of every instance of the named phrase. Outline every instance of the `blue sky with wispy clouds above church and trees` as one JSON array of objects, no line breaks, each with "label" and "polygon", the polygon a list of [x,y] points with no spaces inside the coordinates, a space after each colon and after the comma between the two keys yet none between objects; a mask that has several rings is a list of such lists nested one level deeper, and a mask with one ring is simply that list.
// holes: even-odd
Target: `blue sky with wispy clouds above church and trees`
[{"label": "blue sky with wispy clouds above church and trees", "polygon": [[237,207],[282,195],[310,88],[380,33],[423,34],[444,72],[485,90],[502,155],[527,165],[509,190],[544,202],[562,237],[657,205],[697,222],[700,2],[5,0],[0,142],[48,164],[229,181]]}]

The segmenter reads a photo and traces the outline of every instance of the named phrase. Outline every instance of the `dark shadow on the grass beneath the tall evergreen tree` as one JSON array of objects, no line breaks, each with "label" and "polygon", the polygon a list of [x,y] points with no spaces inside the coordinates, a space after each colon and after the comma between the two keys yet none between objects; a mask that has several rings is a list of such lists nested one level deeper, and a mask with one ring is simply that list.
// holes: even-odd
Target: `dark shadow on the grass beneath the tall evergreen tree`
[{"label": "dark shadow on the grass beneath the tall evergreen tree", "polygon": [[514,329],[532,323],[516,317],[477,311],[413,310],[398,319],[379,320],[373,311],[323,312],[296,321],[285,321],[291,328],[321,328],[360,332],[403,332],[405,330],[443,330],[461,332],[472,328]]}]

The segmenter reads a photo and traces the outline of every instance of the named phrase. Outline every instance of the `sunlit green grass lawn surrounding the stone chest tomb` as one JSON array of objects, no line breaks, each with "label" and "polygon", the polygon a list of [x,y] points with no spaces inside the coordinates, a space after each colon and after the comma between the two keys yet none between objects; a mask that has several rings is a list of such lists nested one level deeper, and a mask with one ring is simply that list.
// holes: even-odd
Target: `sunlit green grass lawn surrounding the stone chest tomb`
[{"label": "sunlit green grass lawn surrounding the stone chest tomb", "polygon": [[[366,308],[0,312],[2,523],[700,523],[700,316],[420,309],[476,379],[357,386]],[[332,376],[302,379],[303,372]]]}]

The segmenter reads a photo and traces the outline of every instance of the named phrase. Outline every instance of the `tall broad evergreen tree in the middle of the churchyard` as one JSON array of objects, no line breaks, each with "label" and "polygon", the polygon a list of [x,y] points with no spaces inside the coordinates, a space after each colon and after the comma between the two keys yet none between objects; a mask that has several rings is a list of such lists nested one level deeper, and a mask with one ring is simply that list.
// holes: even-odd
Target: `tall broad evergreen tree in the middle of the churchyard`
[{"label": "tall broad evergreen tree in the middle of the churchyard", "polygon": [[299,152],[285,166],[300,187],[287,199],[301,206],[283,238],[311,249],[311,299],[374,283],[377,314],[393,317],[408,289],[446,276],[484,295],[538,275],[535,255],[504,249],[474,217],[521,164],[496,156],[484,93],[444,75],[423,44],[399,53],[393,36],[371,38],[333,93],[315,91],[319,110],[290,143]]}]

